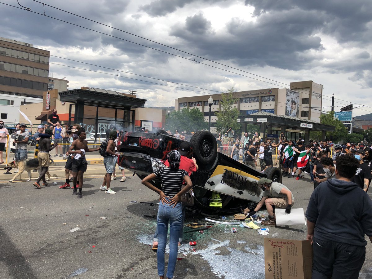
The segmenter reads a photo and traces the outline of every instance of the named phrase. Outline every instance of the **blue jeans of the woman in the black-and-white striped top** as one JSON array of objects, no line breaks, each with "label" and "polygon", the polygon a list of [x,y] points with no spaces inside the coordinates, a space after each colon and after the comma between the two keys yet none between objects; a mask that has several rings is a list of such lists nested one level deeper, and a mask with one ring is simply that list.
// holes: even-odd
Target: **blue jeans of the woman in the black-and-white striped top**
[{"label": "blue jeans of the woman in the black-and-white striped top", "polygon": [[157,251],[158,260],[158,275],[164,276],[165,261],[164,253],[167,244],[168,222],[170,237],[169,237],[169,260],[167,268],[167,278],[173,278],[174,269],[176,268],[177,252],[178,252],[178,239],[180,231],[182,230],[182,209],[181,203],[173,208],[162,202],[159,202],[157,230],[159,234],[159,243]]}]

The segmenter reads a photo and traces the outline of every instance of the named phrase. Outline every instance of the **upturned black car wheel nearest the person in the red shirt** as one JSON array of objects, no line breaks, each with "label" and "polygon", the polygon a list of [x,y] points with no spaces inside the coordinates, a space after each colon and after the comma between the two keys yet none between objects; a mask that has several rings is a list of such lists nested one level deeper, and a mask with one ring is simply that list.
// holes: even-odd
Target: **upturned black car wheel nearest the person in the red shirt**
[{"label": "upturned black car wheel nearest the person in the red shirt", "polygon": [[214,135],[208,131],[196,132],[190,143],[199,169],[212,169],[217,157],[217,140]]}]

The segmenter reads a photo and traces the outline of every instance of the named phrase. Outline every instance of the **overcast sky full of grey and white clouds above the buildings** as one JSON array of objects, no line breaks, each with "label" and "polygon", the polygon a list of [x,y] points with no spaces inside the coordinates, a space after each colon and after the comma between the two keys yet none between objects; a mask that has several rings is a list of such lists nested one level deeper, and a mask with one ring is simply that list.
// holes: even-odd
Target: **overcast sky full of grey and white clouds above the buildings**
[{"label": "overcast sky full of grey and white clouds above the buildings", "polygon": [[[19,7],[15,0],[0,1]],[[355,109],[353,116],[372,113],[372,1],[44,1],[119,30],[32,0],[19,3],[31,12],[0,4],[0,36],[46,48],[51,55],[100,66],[51,56],[49,75],[66,77],[69,89],[134,90],[147,99],[146,106],[174,106],[178,97],[215,93],[210,90],[276,88],[279,86],[270,84],[276,81],[289,87],[285,84],[313,80],[323,84],[323,106],[331,105],[334,93],[340,99],[336,106],[369,106]]]}]

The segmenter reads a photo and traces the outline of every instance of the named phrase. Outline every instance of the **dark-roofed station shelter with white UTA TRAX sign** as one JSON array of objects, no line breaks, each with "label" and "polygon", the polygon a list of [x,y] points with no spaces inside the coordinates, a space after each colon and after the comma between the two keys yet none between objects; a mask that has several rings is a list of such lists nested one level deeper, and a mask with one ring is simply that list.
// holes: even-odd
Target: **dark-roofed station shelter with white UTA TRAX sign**
[{"label": "dark-roofed station shelter with white UTA TRAX sign", "polygon": [[[243,131],[247,130],[248,124],[260,125],[261,138],[267,138],[267,135],[273,135],[273,132],[286,135],[286,131],[289,129],[303,130],[305,134],[303,139],[305,142],[309,142],[310,140],[310,131],[321,131],[322,140],[325,140],[325,132],[334,132],[336,129],[334,126],[320,124],[310,119],[301,119],[288,115],[275,115],[274,113],[262,111],[250,115],[238,116],[238,122],[243,125]],[[280,130],[274,130],[273,127],[280,128]],[[295,138],[289,137],[288,139],[294,140]]]}]

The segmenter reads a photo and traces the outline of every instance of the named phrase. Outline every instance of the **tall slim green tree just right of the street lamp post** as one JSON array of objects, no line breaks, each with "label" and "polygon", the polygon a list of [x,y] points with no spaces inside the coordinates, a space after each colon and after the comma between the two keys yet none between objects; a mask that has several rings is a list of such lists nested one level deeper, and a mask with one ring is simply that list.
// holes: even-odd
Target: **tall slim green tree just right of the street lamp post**
[{"label": "tall slim green tree just right of the street lamp post", "polygon": [[215,113],[218,118],[216,123],[217,131],[222,130],[225,132],[230,127],[233,130],[237,130],[241,126],[241,124],[237,123],[238,115],[240,114],[239,110],[233,107],[238,102],[238,99],[234,98],[234,92],[234,87],[231,87],[226,90],[226,94],[222,94],[222,100],[220,100],[221,111]]}]

